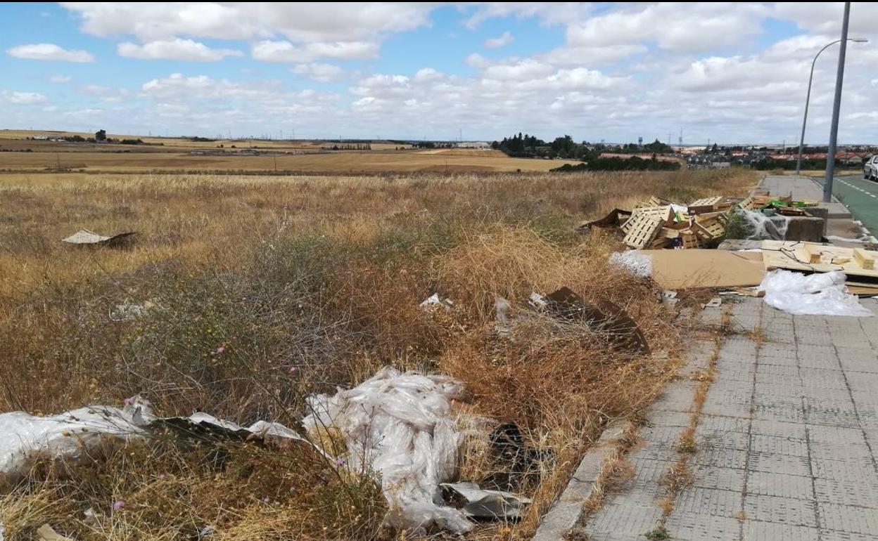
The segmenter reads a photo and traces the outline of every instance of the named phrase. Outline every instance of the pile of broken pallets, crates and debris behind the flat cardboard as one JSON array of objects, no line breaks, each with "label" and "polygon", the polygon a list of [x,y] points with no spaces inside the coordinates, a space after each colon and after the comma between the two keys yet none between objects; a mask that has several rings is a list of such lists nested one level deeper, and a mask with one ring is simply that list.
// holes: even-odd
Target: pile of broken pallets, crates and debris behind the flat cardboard
[{"label": "pile of broken pallets, crates and debris behind the flat cardboard", "polygon": [[[804,209],[815,205],[817,202],[794,202],[790,197],[761,195],[745,199],[704,197],[683,205],[652,196],[637,203],[633,210],[615,209],[606,217],[586,222],[579,226],[579,231],[618,231],[626,246],[638,250],[703,248],[716,246],[716,242],[725,237],[726,226],[735,212],[758,213],[764,217],[810,217]],[[772,231],[785,231],[785,228],[775,227]],[[768,238],[776,237],[770,235]]]}]

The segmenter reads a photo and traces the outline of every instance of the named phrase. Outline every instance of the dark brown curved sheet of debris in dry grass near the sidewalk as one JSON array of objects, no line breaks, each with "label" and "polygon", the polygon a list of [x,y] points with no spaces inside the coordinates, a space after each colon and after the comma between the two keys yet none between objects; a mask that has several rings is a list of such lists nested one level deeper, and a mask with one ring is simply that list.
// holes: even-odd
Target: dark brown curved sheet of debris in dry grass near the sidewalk
[{"label": "dark brown curved sheet of debris in dry grass near the sidewalk", "polygon": [[643,331],[628,312],[607,300],[589,303],[570,288],[563,287],[545,297],[550,310],[568,320],[586,322],[589,327],[606,334],[609,341],[630,352],[649,353]]}]

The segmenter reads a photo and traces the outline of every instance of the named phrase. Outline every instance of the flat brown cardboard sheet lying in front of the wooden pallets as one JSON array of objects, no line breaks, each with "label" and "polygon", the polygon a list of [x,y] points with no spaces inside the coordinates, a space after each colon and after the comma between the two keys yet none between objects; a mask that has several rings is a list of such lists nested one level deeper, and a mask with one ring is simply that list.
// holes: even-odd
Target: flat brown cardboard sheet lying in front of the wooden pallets
[{"label": "flat brown cardboard sheet lying in front of the wooden pallets", "polygon": [[643,250],[652,278],[666,289],[758,286],[765,275],[762,253],[724,250]]}]

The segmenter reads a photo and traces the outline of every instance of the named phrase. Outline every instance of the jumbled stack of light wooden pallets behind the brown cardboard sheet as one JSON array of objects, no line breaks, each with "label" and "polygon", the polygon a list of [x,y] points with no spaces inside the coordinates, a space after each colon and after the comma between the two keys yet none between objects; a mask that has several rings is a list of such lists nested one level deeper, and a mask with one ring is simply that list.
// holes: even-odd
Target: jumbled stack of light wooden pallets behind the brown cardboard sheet
[{"label": "jumbled stack of light wooden pallets behind the brown cardboard sheet", "polygon": [[[688,205],[659,197],[637,203],[623,222],[623,242],[632,248],[698,248],[725,233],[733,202],[706,197]],[[596,224],[595,222],[590,224]]]}]

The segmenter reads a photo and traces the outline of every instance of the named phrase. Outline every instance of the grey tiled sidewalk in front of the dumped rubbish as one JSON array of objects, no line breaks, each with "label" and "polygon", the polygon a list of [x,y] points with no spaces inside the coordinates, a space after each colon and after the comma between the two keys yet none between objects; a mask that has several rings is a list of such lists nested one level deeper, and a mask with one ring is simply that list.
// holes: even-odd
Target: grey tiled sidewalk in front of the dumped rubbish
[{"label": "grey tiled sidewalk in front of the dumped rubbish", "polygon": [[[878,312],[878,302],[864,300]],[[689,459],[692,486],[666,516],[673,539],[878,541],[878,317],[790,316],[747,299],[727,338]],[[705,345],[693,363],[709,359]],[[630,459],[635,479],[587,523],[593,541],[645,539],[679,456],[688,382],[672,387]]]}]

